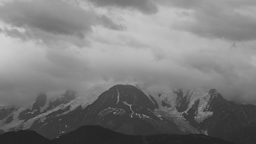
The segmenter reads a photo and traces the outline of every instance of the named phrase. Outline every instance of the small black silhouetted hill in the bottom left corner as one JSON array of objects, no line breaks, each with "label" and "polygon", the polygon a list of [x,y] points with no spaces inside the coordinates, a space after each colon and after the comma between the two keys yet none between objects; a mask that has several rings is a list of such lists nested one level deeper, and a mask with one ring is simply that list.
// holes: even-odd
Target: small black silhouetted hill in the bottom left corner
[{"label": "small black silhouetted hill in the bottom left corner", "polygon": [[18,132],[0,134],[0,142],[1,144],[58,144],[32,130],[20,130]]}]

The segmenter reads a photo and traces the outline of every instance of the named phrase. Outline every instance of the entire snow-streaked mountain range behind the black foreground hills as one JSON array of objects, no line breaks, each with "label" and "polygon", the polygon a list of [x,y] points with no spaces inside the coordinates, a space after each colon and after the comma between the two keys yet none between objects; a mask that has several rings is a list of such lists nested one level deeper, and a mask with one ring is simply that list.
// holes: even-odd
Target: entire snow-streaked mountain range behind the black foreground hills
[{"label": "entire snow-streaked mountain range behind the black foreground hills", "polygon": [[208,88],[148,92],[135,84],[96,85],[78,96],[67,91],[45,100],[41,94],[30,106],[1,108],[0,118],[1,130],[35,130],[50,139],[99,125],[129,135],[204,134],[236,144],[256,140],[256,106],[234,104]]}]

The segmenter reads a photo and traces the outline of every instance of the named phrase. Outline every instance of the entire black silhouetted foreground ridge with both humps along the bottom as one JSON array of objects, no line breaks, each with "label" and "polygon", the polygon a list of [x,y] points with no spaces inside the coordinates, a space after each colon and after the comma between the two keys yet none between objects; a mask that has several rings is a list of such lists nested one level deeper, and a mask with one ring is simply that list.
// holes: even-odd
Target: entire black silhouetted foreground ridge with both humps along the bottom
[{"label": "entire black silhouetted foreground ridge with both humps along the bottom", "polygon": [[201,134],[156,134],[134,136],[114,132],[101,126],[82,126],[54,140],[31,130],[0,134],[0,144],[232,144]]}]

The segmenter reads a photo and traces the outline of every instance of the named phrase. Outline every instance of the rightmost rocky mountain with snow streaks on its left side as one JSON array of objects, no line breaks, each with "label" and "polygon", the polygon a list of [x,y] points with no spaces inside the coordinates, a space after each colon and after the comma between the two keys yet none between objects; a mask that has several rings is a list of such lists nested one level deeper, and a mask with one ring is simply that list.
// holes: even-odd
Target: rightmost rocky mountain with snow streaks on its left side
[{"label": "rightmost rocky mountain with snow streaks on its left side", "polygon": [[178,110],[184,110],[182,116],[195,128],[206,130],[209,136],[239,144],[256,140],[251,135],[256,132],[256,106],[228,102],[215,89],[206,90],[205,94],[188,91]]}]

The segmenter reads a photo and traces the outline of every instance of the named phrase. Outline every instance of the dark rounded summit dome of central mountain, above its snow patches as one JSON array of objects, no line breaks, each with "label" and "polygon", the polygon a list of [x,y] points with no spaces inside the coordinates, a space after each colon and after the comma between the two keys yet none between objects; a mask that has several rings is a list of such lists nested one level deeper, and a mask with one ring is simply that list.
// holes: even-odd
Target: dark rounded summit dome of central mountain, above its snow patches
[{"label": "dark rounded summit dome of central mountain, above its snow patches", "polygon": [[133,117],[143,110],[154,110],[153,102],[150,97],[135,86],[118,84],[103,92],[88,110],[89,113],[100,113],[102,115],[106,110],[120,109]]}]

